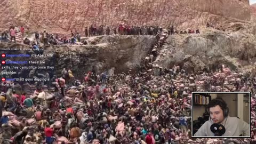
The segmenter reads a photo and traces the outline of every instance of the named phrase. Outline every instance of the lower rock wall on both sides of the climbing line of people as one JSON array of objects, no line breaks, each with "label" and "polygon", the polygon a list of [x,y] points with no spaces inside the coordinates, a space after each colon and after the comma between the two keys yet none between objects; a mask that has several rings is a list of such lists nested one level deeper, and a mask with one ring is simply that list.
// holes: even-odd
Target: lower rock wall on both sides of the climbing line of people
[{"label": "lower rock wall on both sides of the climbing line of people", "polygon": [[[236,23],[234,27],[242,26]],[[247,33],[247,28],[244,27],[240,29],[234,32],[206,29],[203,34],[171,35],[157,50],[158,55],[153,64],[166,68],[179,65],[190,73],[205,68],[215,70],[220,65],[226,64],[231,70],[245,73],[256,66],[255,29],[254,33]],[[47,65],[55,66],[57,74],[60,74],[63,68],[71,68],[78,77],[90,70],[99,73],[108,71],[108,74],[121,73],[140,65],[141,59],[148,56],[156,43],[154,36],[97,36],[84,40],[89,45],[46,47],[44,54],[54,53],[55,57],[46,57],[43,60]],[[28,46],[0,43],[0,47]],[[12,51],[12,53],[34,52]],[[40,60],[40,58],[31,59]]]}]

